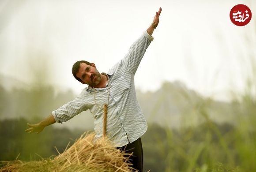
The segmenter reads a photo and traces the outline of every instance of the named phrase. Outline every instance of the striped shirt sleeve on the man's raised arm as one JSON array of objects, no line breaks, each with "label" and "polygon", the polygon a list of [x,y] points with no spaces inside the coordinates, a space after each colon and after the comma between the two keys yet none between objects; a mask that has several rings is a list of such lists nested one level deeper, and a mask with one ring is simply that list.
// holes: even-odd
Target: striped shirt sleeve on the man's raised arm
[{"label": "striped shirt sleeve on the man's raised arm", "polygon": [[143,58],[147,47],[150,45],[154,37],[149,35],[147,31],[144,31],[142,36],[140,36],[130,47],[128,53],[121,60],[121,65],[123,65],[129,72],[135,74],[139,63]]}]

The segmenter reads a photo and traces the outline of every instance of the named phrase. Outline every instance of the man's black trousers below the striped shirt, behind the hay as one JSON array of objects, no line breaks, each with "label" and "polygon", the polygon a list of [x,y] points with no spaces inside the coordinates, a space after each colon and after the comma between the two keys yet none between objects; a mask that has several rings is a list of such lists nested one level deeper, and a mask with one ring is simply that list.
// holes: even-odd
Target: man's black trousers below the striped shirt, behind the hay
[{"label": "man's black trousers below the striped shirt, behind the hay", "polygon": [[143,172],[143,149],[140,138],[132,143],[129,142],[125,146],[117,147],[117,149],[125,153],[132,153],[132,156],[129,158],[130,163],[132,163],[132,168]]}]

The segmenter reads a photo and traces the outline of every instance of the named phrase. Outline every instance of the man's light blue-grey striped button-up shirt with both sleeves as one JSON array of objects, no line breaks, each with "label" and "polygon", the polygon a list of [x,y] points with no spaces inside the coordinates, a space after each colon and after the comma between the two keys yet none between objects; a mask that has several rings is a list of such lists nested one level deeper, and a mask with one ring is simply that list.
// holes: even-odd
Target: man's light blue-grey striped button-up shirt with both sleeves
[{"label": "man's light blue-grey striped button-up shirt with both sleeves", "polygon": [[106,137],[114,147],[125,146],[142,136],[147,131],[147,122],[137,101],[134,75],[153,39],[144,31],[124,58],[109,70],[107,86],[84,88],[73,101],[52,112],[56,122],[65,122],[89,109],[94,117],[95,139],[98,139],[102,137],[103,105],[108,104]]}]

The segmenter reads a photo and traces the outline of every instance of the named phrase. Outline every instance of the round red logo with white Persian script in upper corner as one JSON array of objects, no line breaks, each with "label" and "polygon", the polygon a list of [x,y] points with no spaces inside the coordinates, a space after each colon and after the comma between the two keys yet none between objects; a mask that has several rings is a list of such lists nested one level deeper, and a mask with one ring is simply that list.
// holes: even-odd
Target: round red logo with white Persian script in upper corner
[{"label": "round red logo with white Persian script in upper corner", "polygon": [[230,11],[230,20],[237,26],[245,26],[252,19],[252,12],[244,4],[235,5]]}]

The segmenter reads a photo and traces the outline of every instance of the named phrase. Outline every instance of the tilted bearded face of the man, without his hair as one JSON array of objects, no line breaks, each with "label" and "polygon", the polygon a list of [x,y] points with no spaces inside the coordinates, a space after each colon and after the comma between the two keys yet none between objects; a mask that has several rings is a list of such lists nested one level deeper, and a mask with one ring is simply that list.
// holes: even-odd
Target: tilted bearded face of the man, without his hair
[{"label": "tilted bearded face of the man, without his hair", "polygon": [[75,74],[76,77],[81,79],[81,83],[88,84],[90,86],[97,86],[101,82],[101,74],[96,69],[95,64],[81,63],[79,71]]}]

